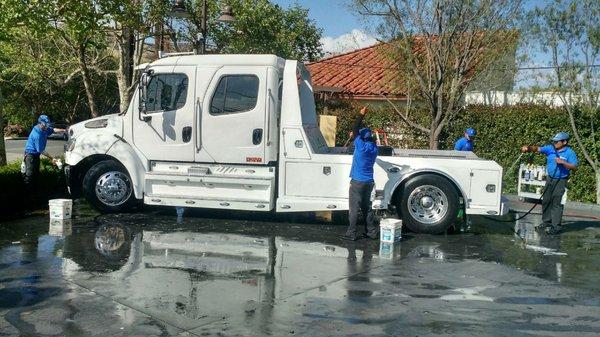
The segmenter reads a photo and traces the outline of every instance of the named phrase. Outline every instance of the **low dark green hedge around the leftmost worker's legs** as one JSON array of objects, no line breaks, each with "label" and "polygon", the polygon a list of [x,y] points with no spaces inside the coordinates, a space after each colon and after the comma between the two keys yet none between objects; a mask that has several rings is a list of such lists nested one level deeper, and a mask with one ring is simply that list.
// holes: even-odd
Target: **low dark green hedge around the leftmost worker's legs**
[{"label": "low dark green hedge around the leftmost worker's legs", "polygon": [[67,195],[64,174],[47,159],[42,159],[40,164],[35,201],[26,195],[20,161],[0,167],[0,186],[0,219],[45,207],[48,199]]}]

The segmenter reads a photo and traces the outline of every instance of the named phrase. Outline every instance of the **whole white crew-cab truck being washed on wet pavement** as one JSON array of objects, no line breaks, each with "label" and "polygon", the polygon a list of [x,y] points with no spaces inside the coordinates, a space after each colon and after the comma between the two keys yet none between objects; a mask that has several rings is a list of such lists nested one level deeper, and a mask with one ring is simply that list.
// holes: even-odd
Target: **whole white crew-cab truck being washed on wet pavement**
[{"label": "whole white crew-cab truck being washed on wet pavement", "polygon": [[[103,212],[147,205],[305,212],[348,209],[352,155],[328,147],[310,75],[274,55],[186,55],[145,65],[129,108],[73,125],[73,197]],[[379,156],[373,208],[440,233],[459,209],[502,215],[502,167],[471,152]]]}]

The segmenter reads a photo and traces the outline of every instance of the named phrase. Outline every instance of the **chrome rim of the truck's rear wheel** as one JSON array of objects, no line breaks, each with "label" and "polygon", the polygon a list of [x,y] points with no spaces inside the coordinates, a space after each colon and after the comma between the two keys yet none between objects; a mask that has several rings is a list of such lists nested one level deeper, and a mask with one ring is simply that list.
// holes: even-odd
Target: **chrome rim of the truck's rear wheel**
[{"label": "chrome rim of the truck's rear wheel", "polygon": [[421,223],[434,224],[448,213],[448,197],[436,186],[419,186],[408,196],[408,212]]}]

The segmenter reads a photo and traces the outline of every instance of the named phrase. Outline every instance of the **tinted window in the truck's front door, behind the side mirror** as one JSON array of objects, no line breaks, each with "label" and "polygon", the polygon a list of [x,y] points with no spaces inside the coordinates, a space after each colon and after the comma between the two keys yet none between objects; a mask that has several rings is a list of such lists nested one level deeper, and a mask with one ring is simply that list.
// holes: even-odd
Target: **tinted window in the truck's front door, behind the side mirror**
[{"label": "tinted window in the truck's front door, behind the side mirror", "polygon": [[148,84],[147,112],[177,110],[185,105],[188,79],[184,74],[156,74]]}]

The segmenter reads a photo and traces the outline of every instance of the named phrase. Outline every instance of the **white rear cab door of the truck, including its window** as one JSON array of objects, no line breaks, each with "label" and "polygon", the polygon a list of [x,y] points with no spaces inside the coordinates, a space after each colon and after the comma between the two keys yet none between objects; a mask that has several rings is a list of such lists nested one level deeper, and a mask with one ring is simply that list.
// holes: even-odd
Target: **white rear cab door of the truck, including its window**
[{"label": "white rear cab door of the truck, including its window", "polygon": [[264,164],[267,67],[227,66],[212,77],[202,103],[200,151],[220,164]]}]

